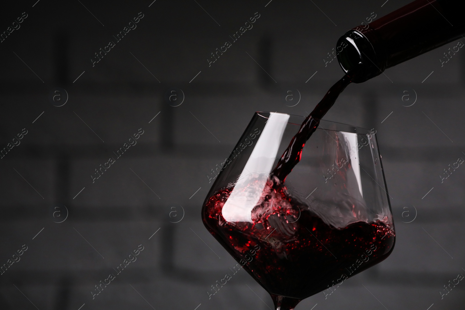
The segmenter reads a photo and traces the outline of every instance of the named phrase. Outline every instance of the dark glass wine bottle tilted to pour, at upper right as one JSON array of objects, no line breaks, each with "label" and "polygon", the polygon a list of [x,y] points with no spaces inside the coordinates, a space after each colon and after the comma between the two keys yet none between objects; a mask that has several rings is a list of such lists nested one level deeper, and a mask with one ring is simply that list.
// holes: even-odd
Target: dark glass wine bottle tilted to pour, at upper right
[{"label": "dark glass wine bottle tilted to pour, at upper right", "polygon": [[465,33],[465,1],[416,0],[365,26],[349,30],[337,43],[339,65],[361,83],[385,69],[445,45]]}]

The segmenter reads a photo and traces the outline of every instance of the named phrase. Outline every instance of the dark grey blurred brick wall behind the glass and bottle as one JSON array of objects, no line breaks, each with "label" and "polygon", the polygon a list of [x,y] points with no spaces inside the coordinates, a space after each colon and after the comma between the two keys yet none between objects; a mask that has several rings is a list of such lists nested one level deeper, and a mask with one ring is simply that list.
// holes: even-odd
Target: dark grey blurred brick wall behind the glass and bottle
[{"label": "dark grey blurred brick wall behind the glass and bottle", "polygon": [[[0,159],[0,264],[28,248],[0,275],[0,309],[272,308],[245,271],[208,299],[235,261],[200,219],[207,175],[253,112],[310,112],[342,77],[336,60],[324,60],[339,36],[410,1],[268,1],[2,4],[1,32],[28,17],[0,43],[1,148],[27,130]],[[139,12],[137,28],[116,42]],[[210,53],[255,12],[253,28],[209,67]],[[116,46],[93,67],[110,40]],[[456,45],[348,86],[327,114],[377,130],[397,244],[381,264],[297,310],[463,309],[464,283],[439,293],[465,274],[465,168],[439,177],[465,158],[465,51],[442,67],[438,60]],[[66,89],[64,106],[56,106],[63,91],[49,99],[56,87]],[[137,145],[93,183],[94,169],[139,128]],[[137,261],[92,299],[139,244]]]}]

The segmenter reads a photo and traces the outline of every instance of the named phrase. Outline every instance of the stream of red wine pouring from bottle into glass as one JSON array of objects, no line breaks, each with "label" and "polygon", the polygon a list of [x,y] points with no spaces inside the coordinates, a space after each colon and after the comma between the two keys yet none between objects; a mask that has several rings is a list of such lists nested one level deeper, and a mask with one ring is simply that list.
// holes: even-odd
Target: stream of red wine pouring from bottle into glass
[{"label": "stream of red wine pouring from bottle into glass", "polygon": [[278,165],[276,165],[276,168],[274,168],[271,173],[271,177],[275,177],[275,182],[284,182],[287,175],[291,173],[292,168],[299,163],[302,156],[302,149],[312,133],[317,129],[319,121],[325,116],[326,112],[331,109],[336,99],[338,99],[339,94],[352,82],[352,79],[357,76],[358,72],[359,67],[355,67],[352,71],[344,75],[342,79],[337,81],[336,84],[326,92],[325,97],[321,99],[313,111],[306,117],[302,125],[300,125],[299,132],[292,138],[291,143],[289,143],[286,151],[284,151],[279,159]]}]

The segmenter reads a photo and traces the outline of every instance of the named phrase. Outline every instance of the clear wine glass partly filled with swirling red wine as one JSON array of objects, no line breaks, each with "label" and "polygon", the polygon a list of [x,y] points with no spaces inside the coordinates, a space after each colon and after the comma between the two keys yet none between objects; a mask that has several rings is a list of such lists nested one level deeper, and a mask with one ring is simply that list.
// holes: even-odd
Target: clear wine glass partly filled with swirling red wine
[{"label": "clear wine glass partly filled with swirling red wine", "polygon": [[212,173],[202,207],[207,230],[277,310],[292,310],[381,262],[395,243],[374,132],[321,120],[292,172],[283,182],[273,179],[304,119],[256,112]]}]

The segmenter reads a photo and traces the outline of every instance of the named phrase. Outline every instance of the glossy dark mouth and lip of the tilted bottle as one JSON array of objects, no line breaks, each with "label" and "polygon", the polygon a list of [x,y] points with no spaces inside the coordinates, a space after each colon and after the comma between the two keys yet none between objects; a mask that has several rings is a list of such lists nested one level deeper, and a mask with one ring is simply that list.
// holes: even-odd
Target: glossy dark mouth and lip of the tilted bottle
[{"label": "glossy dark mouth and lip of the tilted bottle", "polygon": [[352,80],[354,83],[365,82],[382,73],[372,44],[357,30],[351,29],[340,37],[336,51],[339,65],[345,73],[362,63],[360,72]]}]

